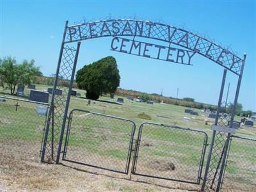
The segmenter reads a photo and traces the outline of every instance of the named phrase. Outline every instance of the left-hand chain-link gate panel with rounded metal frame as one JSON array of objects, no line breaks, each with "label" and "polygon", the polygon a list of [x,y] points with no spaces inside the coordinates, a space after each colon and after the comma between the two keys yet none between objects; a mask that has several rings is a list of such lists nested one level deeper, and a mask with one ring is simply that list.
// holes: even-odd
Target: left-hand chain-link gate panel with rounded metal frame
[{"label": "left-hand chain-link gate panel with rounded metal frame", "polygon": [[63,161],[128,174],[135,127],[131,120],[73,109]]}]

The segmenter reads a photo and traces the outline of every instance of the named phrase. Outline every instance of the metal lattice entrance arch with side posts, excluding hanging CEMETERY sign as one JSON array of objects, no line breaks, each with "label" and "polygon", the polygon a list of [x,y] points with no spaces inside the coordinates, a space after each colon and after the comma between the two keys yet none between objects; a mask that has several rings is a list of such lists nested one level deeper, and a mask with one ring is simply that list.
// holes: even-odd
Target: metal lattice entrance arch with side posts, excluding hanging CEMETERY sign
[{"label": "metal lattice entrance arch with side posts, excluding hanging CEMETERY sign", "polygon": [[[204,56],[225,68],[221,83],[215,125],[217,128],[223,126],[229,126],[232,128],[239,89],[241,86],[241,79],[243,77],[246,54],[244,54],[243,58],[239,58],[239,56],[228,51],[228,49],[224,49],[220,45],[217,45],[201,36],[195,35],[190,31],[158,22],[136,19],[109,19],[96,22],[84,22],[82,24],[68,26],[67,21],[64,28],[60,56],[56,70],[56,78],[52,91],[51,107],[49,109],[47,124],[45,126],[44,142],[41,154],[42,162],[55,161],[56,163],[59,163],[60,161],[63,134],[65,132],[67,122],[68,106],[72,83],[74,81],[79,47],[81,44],[80,42],[82,40],[89,40],[104,36],[133,36],[134,38],[136,36],[140,36],[143,38],[167,42],[169,43],[169,47],[171,44],[184,47],[189,51],[200,54],[201,56]],[[77,44],[75,44],[76,42]],[[221,106],[225,106],[225,104],[223,104],[222,97],[227,70],[236,74],[238,77],[234,108],[230,118],[227,116],[220,116]],[[65,85],[67,84],[67,81],[65,80],[68,80],[68,86]],[[56,94],[56,90],[58,88],[61,88],[63,91],[61,95]],[[54,115],[52,115],[53,113]],[[205,189],[214,189],[219,191],[221,188],[230,136],[230,132],[223,134],[223,131],[220,131],[220,129],[214,129],[212,132],[211,148],[207,159],[207,166],[205,168],[204,183],[202,185],[203,191]]]}]

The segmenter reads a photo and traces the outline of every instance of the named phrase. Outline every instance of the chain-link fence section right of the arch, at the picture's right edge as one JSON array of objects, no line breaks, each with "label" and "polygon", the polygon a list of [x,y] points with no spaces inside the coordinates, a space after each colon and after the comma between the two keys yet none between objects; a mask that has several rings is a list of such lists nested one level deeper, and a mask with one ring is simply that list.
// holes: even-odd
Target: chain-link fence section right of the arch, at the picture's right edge
[{"label": "chain-link fence section right of the arch, at the picture's right edge", "polygon": [[232,135],[222,189],[256,191],[256,139]]}]

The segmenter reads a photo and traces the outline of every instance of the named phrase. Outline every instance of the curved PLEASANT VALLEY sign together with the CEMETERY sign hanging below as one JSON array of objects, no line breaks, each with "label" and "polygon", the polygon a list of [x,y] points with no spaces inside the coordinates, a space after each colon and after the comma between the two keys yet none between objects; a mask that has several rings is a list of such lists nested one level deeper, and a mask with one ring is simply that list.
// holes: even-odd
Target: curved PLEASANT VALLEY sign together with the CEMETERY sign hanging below
[{"label": "curved PLEASANT VALLEY sign together with the CEMETERY sign hanging below", "polygon": [[[69,26],[67,27],[65,43],[104,36],[114,36],[111,42],[111,50],[136,54],[147,58],[190,65],[191,58],[195,53],[198,53],[205,58],[218,63],[218,65],[227,68],[231,72],[234,72],[234,74],[237,74],[238,76],[243,64],[243,59],[201,36],[195,35],[184,29],[145,20],[104,20]],[[165,47],[162,45],[149,44],[147,42],[127,40],[117,36],[140,36],[167,42],[169,46]],[[118,42],[120,44],[115,45]],[[172,44],[188,50],[170,47]],[[124,49],[124,47],[127,49]],[[156,49],[156,54],[148,54],[148,52],[150,52],[149,49]],[[136,52],[134,53],[132,51]],[[161,53],[163,53],[163,55]]]}]

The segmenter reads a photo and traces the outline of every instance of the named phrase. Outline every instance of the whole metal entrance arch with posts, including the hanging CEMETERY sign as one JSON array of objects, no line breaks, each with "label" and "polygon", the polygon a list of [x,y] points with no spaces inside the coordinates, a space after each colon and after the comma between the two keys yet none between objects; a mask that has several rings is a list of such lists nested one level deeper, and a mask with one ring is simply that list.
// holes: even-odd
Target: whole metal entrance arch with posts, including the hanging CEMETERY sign
[{"label": "whole metal entrance arch with posts, including the hanging CEMETERY sign", "polygon": [[[45,124],[41,161],[49,161],[49,159],[56,163],[59,163],[60,161],[60,153],[62,151],[61,145],[66,127],[68,106],[81,41],[107,36],[112,37],[110,42],[111,51],[118,51],[125,54],[133,54],[145,58],[184,65],[192,65],[191,63],[193,63],[195,54],[198,54],[224,68],[215,120],[215,125],[218,125],[215,127],[220,127],[221,129],[212,130],[212,145],[209,150],[209,156],[205,167],[204,182],[202,184],[202,191],[207,188],[209,183],[211,183],[211,186],[214,184],[214,186],[216,186],[216,191],[218,191],[223,179],[227,151],[232,132],[226,132],[227,137],[223,140],[221,137],[226,135],[219,133],[227,127],[233,127],[246,54],[244,54],[243,58],[239,58],[239,56],[228,51],[228,49],[224,49],[220,45],[211,42],[202,36],[198,36],[195,33],[175,28],[168,24],[161,24],[159,22],[151,22],[148,20],[109,19],[84,22],[72,26],[68,26],[68,22],[66,22],[56,70],[56,78],[52,90],[51,107],[47,116],[47,124]],[[135,39],[136,37],[138,37],[138,39]],[[145,42],[141,39],[145,40]],[[147,42],[148,39],[154,40],[154,42],[161,42],[161,44],[153,44],[152,41]],[[223,117],[220,116],[219,113],[221,112],[221,104],[223,103],[222,97],[227,70],[236,74],[238,81],[232,114],[231,116]],[[68,80],[68,87],[63,85],[63,79]],[[61,89],[63,91],[62,95],[56,95],[56,89]],[[221,118],[220,121],[219,118]],[[226,124],[226,122],[228,122],[228,124]],[[216,143],[217,141],[219,143]],[[220,144],[220,142],[222,143]],[[216,150],[214,148],[215,143]],[[218,148],[218,146],[223,147],[223,150],[221,150],[220,153],[220,147]],[[212,154],[214,154],[213,159],[215,160],[211,159]],[[219,161],[216,161],[217,157],[219,158]],[[216,164],[216,162],[219,164]],[[210,167],[211,169],[209,169]],[[216,169],[214,169],[214,167]],[[214,175],[214,178],[210,178],[213,177],[212,175]],[[209,182],[209,180],[212,181]]]}]

